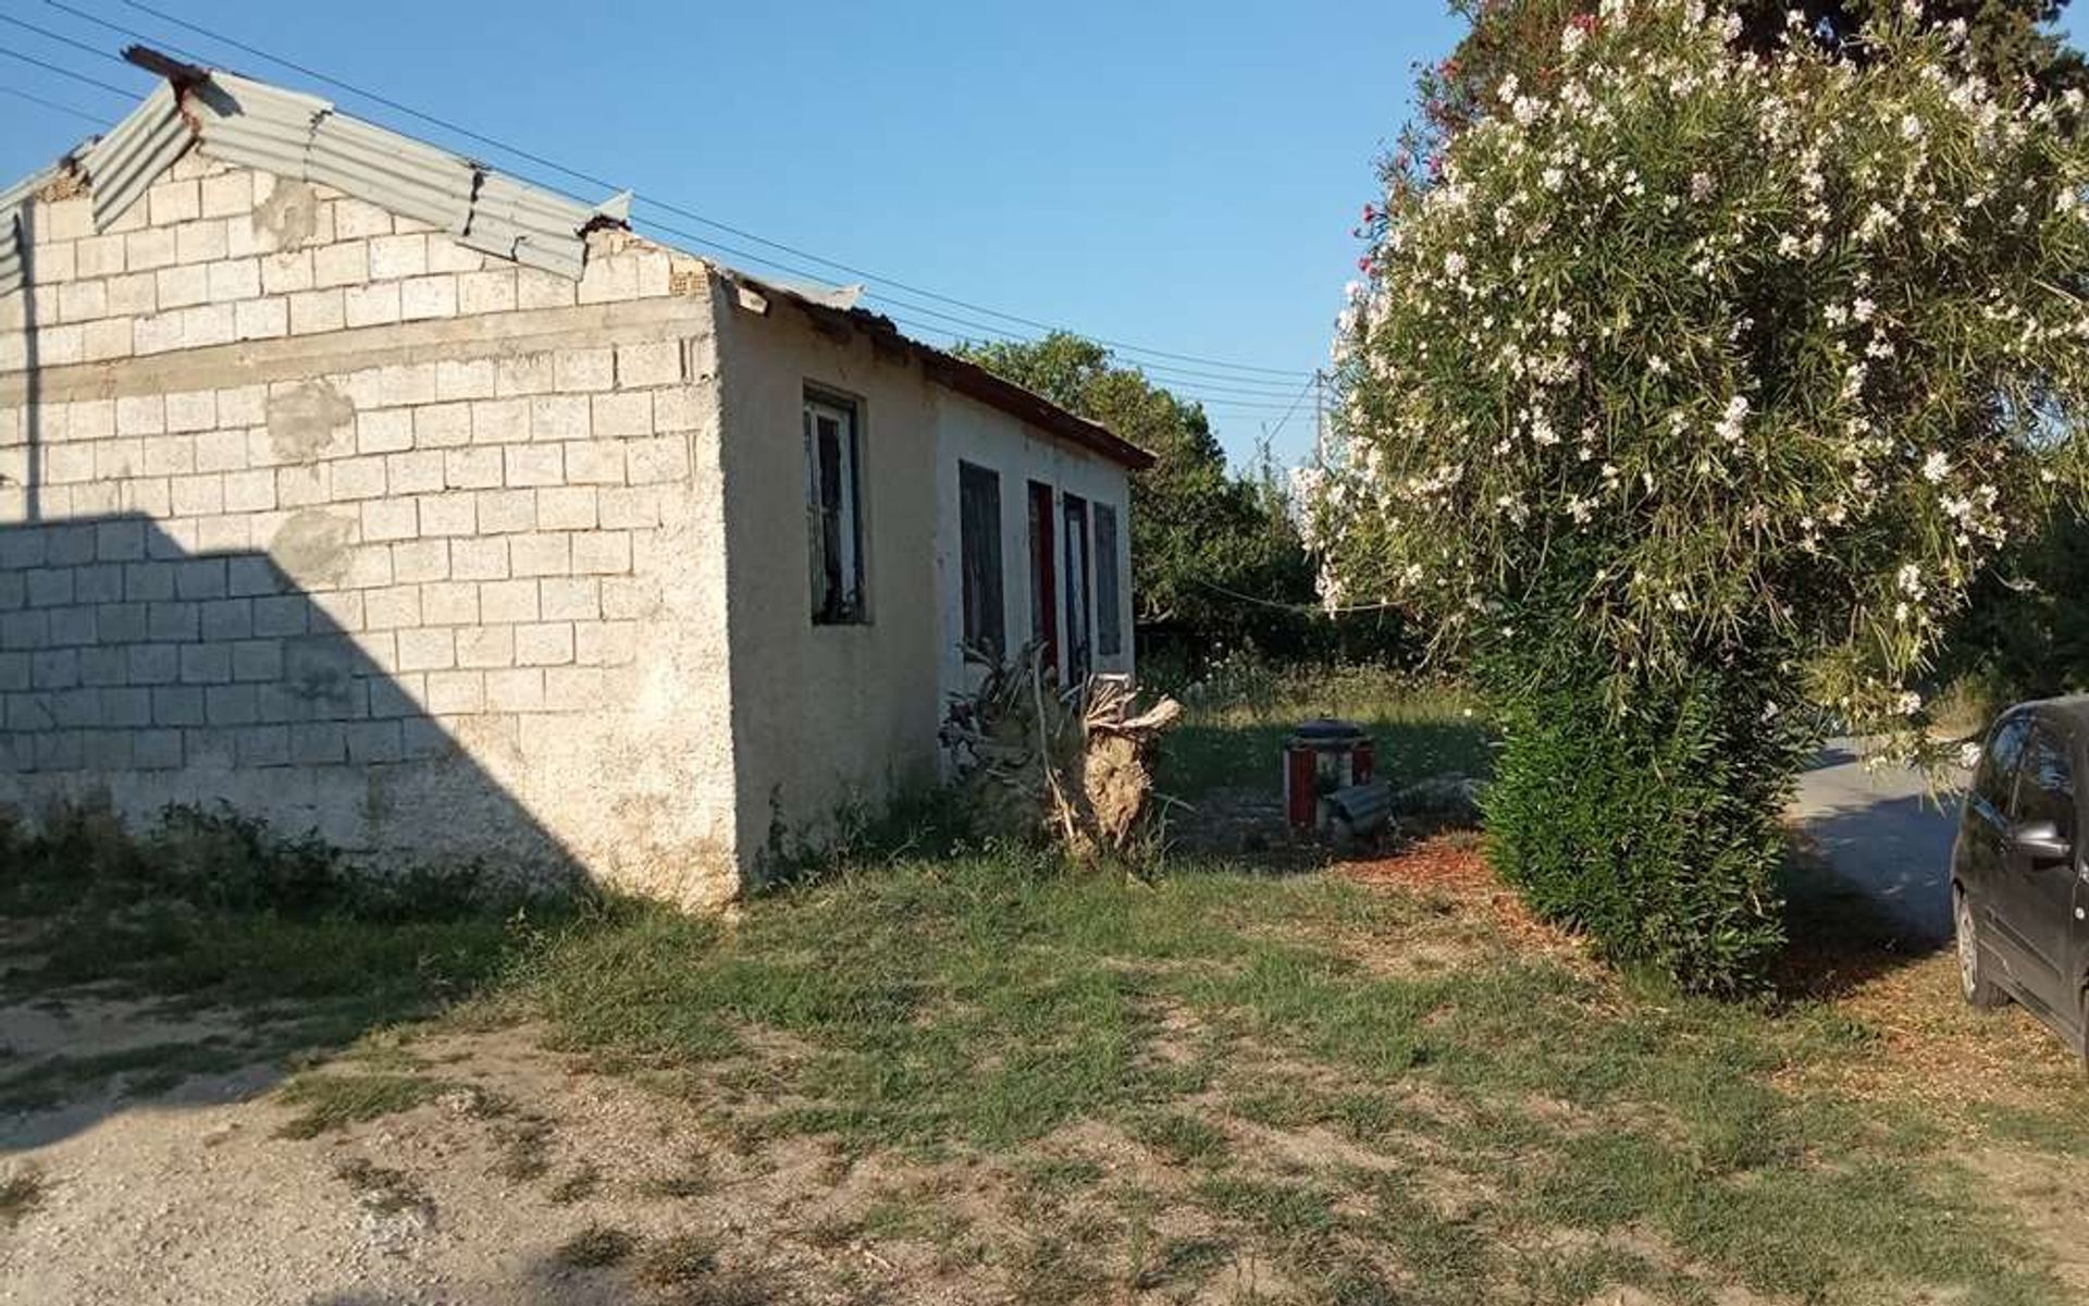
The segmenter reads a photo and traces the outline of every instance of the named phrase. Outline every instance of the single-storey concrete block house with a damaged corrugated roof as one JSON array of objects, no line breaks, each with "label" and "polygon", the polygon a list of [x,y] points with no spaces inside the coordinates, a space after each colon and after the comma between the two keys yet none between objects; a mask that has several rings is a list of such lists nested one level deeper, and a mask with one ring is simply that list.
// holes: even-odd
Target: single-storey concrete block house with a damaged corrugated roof
[{"label": "single-storey concrete block house with a damaged corrugated roof", "polygon": [[1147,456],[221,71],[0,192],[0,802],[230,802],[708,905],[936,777],[965,646],[1132,669]]}]

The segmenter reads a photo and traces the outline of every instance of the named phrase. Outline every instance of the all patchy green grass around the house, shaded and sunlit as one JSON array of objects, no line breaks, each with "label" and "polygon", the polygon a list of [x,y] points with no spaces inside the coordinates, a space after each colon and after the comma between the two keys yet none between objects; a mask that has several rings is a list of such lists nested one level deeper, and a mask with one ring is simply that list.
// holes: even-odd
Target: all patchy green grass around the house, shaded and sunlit
[{"label": "all patchy green grass around the house, shaded and sunlit", "polygon": [[[1301,706],[1320,710],[1199,708],[1170,773],[1260,782]],[[1456,698],[1327,706],[1370,721],[1400,775],[1483,769]],[[2043,1304],[2068,1291],[2058,1235],[1976,1174],[2003,1158],[2026,1183],[2089,1183],[2089,1091],[2020,1018],[1964,1011],[1947,957],[1859,949],[1849,982],[1688,999],[1431,882],[1178,861],[1126,884],[969,850],[735,919],[610,901],[384,924],[31,896],[0,917],[38,940],[6,974],[13,1001],[94,984],[265,1007],[295,1032],[255,1055],[363,1030],[280,1093],[297,1110],[284,1147],[393,1114],[462,1128],[430,1105],[462,1068],[422,1039],[526,1030],[568,1070],[696,1112],[702,1137],[660,1139],[679,1160],[643,1199],[733,1208],[696,1143],[756,1174],[804,1147],[834,1172],[888,1168],[905,1181],[875,1202],[746,1237],[932,1247],[932,1296],[953,1300]],[[109,1070],[0,1066],[0,1095],[23,1101]],[[1959,1091],[1966,1066],[2003,1070]],[[554,1110],[470,1101],[547,1210],[623,1179],[554,1164]],[[589,1233],[570,1258],[656,1289],[719,1252]]]}]

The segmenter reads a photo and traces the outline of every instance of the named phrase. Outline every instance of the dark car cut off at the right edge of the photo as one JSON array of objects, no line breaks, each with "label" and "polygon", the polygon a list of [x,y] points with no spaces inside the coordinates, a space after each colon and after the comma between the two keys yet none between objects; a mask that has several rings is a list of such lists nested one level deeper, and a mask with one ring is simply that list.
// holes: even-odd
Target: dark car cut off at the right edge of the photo
[{"label": "dark car cut off at the right edge of the photo", "polygon": [[1966,1001],[2016,999],[2089,1066],[2089,696],[1995,721],[1951,850]]}]

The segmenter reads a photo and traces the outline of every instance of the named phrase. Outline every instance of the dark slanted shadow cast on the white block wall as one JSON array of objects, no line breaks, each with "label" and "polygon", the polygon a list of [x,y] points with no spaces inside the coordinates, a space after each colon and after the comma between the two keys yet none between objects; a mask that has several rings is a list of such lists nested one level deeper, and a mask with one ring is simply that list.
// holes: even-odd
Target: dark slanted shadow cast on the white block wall
[{"label": "dark slanted shadow cast on the white block wall", "polygon": [[[338,522],[305,527],[292,516],[278,535],[301,554],[292,566],[345,570]],[[132,821],[228,802],[351,855],[497,859],[574,880],[570,853],[480,765],[514,748],[516,719],[474,715],[470,738],[451,736],[336,623],[330,598],[265,552],[190,554],[144,514],[0,527],[0,796],[33,813],[107,790]],[[366,635],[395,660],[422,637]],[[435,644],[447,648],[447,631]],[[432,696],[457,673],[441,652],[426,662],[437,669],[416,675]]]}]

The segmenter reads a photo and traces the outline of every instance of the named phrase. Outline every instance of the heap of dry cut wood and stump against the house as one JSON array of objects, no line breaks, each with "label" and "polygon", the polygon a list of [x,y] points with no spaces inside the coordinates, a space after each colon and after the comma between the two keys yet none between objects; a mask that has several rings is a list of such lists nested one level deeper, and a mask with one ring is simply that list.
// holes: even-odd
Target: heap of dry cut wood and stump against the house
[{"label": "heap of dry cut wood and stump against the house", "polygon": [[1038,648],[988,667],[942,725],[980,832],[1042,834],[1082,861],[1130,853],[1155,804],[1153,750],[1182,704],[1139,710],[1122,675],[1057,690]]}]

